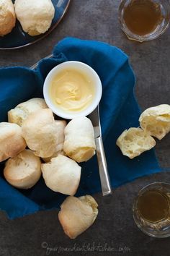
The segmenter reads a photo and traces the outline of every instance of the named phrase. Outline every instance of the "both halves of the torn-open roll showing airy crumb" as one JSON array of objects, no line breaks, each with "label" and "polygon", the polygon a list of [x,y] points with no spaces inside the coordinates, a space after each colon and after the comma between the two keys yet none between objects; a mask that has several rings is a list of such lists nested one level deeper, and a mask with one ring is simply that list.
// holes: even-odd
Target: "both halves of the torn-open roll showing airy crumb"
[{"label": "both halves of the torn-open roll showing airy crumb", "polygon": [[[156,145],[170,132],[170,106],[161,104],[147,108],[139,117],[140,127],[126,129],[117,139],[117,146],[123,155],[132,159]],[[153,137],[152,137],[153,136]]]}]

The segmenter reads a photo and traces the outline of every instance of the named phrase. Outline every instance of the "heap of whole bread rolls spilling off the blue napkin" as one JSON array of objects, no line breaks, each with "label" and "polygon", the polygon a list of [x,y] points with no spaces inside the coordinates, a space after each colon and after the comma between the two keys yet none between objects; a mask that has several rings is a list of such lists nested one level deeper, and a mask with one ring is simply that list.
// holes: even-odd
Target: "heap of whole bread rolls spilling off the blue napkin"
[{"label": "heap of whole bread rolls spilling off the blue napkin", "polygon": [[[0,123],[0,161],[4,177],[18,189],[30,189],[40,176],[55,192],[69,195],[61,205],[59,220],[70,238],[89,228],[97,218],[97,202],[90,195],[74,197],[81,166],[95,154],[90,119],[55,120],[44,99],[32,98],[8,112]],[[78,163],[77,163],[78,162]]]}]

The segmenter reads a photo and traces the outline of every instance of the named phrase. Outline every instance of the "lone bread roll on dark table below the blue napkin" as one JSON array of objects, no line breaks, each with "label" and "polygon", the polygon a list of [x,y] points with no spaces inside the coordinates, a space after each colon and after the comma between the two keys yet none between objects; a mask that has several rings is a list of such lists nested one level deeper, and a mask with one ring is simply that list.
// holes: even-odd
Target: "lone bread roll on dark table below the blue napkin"
[{"label": "lone bread roll on dark table below the blue napkin", "polygon": [[97,218],[97,206],[91,195],[67,197],[58,213],[65,234],[74,239],[88,229]]}]

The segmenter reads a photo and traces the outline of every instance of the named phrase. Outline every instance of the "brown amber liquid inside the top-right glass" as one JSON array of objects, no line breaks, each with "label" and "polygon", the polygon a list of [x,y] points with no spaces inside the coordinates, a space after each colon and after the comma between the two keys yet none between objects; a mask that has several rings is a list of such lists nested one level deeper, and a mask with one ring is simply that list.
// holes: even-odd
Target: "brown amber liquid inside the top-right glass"
[{"label": "brown amber liquid inside the top-right glass", "polygon": [[152,0],[132,0],[123,12],[125,25],[136,35],[152,33],[162,19],[161,5]]}]

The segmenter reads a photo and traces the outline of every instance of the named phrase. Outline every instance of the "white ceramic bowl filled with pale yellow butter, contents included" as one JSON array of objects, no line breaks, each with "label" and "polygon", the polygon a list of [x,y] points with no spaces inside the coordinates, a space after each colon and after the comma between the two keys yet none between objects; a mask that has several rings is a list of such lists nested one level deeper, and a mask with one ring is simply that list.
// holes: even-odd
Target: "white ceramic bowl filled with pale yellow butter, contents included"
[{"label": "white ceramic bowl filled with pale yellow butter, contents included", "polygon": [[88,65],[66,61],[49,72],[43,94],[53,113],[64,119],[73,119],[94,111],[102,97],[102,82]]}]

